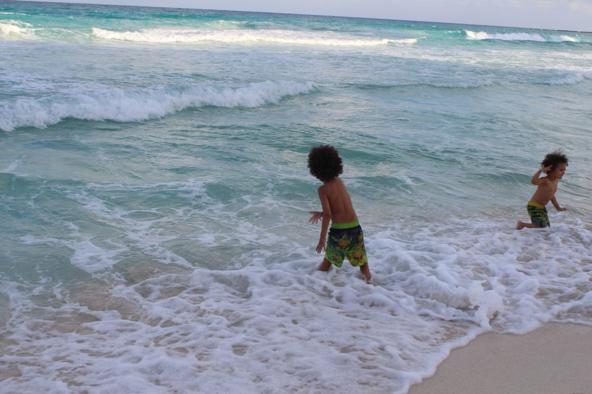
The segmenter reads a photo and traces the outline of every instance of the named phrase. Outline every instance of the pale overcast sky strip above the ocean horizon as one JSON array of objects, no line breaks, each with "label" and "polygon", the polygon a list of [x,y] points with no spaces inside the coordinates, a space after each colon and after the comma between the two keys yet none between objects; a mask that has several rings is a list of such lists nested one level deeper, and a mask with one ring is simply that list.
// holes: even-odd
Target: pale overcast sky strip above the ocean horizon
[{"label": "pale overcast sky strip above the ocean horizon", "polygon": [[592,31],[592,0],[69,0]]}]

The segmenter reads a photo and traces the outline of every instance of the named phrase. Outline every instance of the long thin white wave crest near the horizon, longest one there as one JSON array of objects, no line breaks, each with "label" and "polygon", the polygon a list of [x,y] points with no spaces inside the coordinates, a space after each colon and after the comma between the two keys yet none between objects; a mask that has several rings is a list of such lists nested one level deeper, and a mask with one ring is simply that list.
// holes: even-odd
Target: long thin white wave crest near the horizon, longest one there
[{"label": "long thin white wave crest near the horizon, longest one there", "polygon": [[111,31],[92,28],[92,35],[105,40],[137,41],[144,43],[279,43],[327,46],[376,46],[392,43],[414,44],[417,38],[355,39],[322,37],[289,30],[195,30],[195,29],[146,29],[139,31]]}]

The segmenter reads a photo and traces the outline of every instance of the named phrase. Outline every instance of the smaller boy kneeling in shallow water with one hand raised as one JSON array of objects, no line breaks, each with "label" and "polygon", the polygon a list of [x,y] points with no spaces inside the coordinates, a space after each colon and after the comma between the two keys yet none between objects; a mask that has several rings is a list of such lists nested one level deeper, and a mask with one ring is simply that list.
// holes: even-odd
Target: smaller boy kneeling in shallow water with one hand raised
[{"label": "smaller boy kneeling in shallow water with one hand raised", "polygon": [[[525,223],[519,220],[516,223],[516,230],[522,230],[524,227],[529,227],[530,229],[550,227],[551,224],[549,223],[549,217],[545,208],[549,200],[556,210],[567,210],[567,208],[560,207],[555,199],[557,184],[565,174],[567,157],[560,150],[552,152],[546,155],[543,161],[540,162],[540,167],[540,170],[536,171],[536,174],[530,180],[533,185],[538,185],[538,188],[536,188],[535,194],[533,194],[526,206],[532,223]],[[546,177],[539,178],[541,172],[545,172],[547,174]]]}]

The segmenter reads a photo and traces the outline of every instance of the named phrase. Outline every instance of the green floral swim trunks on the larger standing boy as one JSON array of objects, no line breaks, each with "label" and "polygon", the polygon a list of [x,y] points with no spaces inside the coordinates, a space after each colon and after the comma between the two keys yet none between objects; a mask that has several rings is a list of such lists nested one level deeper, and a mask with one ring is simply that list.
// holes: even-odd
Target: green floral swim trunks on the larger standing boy
[{"label": "green floral swim trunks on the larger standing boy", "polygon": [[325,258],[337,267],[343,264],[344,258],[355,267],[368,262],[364,248],[364,233],[358,220],[350,223],[331,223]]}]

